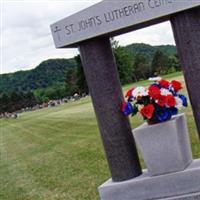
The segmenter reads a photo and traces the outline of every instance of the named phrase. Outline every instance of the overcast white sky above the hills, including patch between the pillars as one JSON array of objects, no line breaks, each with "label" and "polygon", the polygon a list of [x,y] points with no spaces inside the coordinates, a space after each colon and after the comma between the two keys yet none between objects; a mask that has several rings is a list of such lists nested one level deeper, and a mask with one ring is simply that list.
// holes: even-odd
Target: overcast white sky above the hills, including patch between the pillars
[{"label": "overcast white sky above the hills, including patch between the pillars", "polygon": [[[0,0],[0,73],[35,68],[49,58],[71,58],[78,50],[56,49],[50,24],[101,0]],[[171,25],[164,22],[115,37],[121,46],[131,43],[175,44]]]}]

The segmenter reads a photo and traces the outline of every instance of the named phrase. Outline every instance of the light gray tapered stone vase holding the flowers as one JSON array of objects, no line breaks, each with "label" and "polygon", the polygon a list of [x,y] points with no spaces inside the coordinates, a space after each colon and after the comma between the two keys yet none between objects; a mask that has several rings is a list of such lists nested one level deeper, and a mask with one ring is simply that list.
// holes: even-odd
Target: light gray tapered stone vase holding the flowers
[{"label": "light gray tapered stone vase holding the flowers", "polygon": [[133,135],[150,176],[182,171],[192,162],[185,114],[155,125],[144,123]]}]

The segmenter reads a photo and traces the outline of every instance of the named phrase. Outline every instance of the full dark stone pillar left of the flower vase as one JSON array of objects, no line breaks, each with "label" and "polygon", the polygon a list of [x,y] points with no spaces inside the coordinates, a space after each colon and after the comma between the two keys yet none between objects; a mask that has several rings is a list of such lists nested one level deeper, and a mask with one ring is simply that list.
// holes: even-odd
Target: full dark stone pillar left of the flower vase
[{"label": "full dark stone pillar left of the flower vase", "polygon": [[110,40],[88,40],[79,50],[112,180],[136,177],[141,167],[129,120],[120,111],[123,94]]}]

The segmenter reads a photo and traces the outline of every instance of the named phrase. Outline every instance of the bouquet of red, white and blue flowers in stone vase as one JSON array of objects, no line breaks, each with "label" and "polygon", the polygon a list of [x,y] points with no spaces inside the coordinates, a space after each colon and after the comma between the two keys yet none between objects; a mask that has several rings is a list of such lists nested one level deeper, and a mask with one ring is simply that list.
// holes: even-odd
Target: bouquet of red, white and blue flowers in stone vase
[{"label": "bouquet of red, white and blue flowers in stone vase", "polygon": [[187,98],[179,93],[182,89],[179,81],[153,81],[148,88],[136,87],[128,90],[125,95],[127,101],[122,104],[125,116],[133,116],[139,112],[148,124],[155,124],[170,120],[180,109],[187,107]]}]

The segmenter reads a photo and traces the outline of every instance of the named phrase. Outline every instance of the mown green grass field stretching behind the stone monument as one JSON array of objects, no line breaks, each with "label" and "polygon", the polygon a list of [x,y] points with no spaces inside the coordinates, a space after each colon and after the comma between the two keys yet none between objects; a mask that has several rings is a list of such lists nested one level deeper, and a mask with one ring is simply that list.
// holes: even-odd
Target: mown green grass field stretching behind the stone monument
[{"label": "mown green grass field stretching behind the stone monument", "polygon": [[[167,78],[183,81],[180,73]],[[185,112],[199,158],[191,108]],[[131,118],[133,128],[142,122]],[[110,178],[90,98],[0,120],[0,153],[1,200],[95,200]]]}]

